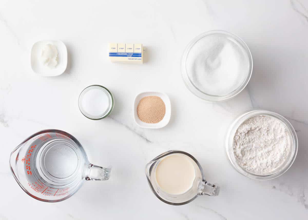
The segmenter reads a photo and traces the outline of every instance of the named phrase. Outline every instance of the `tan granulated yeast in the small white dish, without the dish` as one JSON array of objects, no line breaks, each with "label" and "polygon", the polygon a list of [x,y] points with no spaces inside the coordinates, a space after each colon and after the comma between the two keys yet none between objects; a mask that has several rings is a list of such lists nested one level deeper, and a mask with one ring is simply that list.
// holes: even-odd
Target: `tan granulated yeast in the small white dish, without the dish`
[{"label": "tan granulated yeast in the small white dish, without the dish", "polygon": [[137,106],[138,118],[146,123],[160,122],[166,113],[164,101],[158,96],[145,96]]}]

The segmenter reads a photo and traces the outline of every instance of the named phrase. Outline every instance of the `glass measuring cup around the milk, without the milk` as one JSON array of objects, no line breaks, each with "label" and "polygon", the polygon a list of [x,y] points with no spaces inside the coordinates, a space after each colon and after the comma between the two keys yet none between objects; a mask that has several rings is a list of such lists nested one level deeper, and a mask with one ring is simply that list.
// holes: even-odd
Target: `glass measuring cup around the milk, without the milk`
[{"label": "glass measuring cup around the milk, without the milk", "polygon": [[[160,189],[160,186],[156,181],[155,175],[156,175],[157,165],[165,157],[168,157],[172,154],[184,155],[193,163],[193,166],[195,168],[195,179],[193,181],[193,185],[189,190],[187,190],[183,194],[168,194],[164,192],[162,189]],[[199,162],[192,155],[183,151],[171,150],[160,154],[146,165],[145,172],[147,175],[148,183],[152,189],[152,192],[161,201],[170,205],[184,205],[187,204],[188,202],[193,201],[200,195],[217,196],[219,193],[219,186],[213,185],[205,180],[203,175],[203,170]]]}]

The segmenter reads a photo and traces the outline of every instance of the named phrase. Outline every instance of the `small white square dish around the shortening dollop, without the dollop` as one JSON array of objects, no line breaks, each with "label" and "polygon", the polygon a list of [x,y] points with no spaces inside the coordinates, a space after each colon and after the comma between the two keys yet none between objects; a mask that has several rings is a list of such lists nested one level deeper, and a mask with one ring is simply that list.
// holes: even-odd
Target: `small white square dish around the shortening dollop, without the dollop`
[{"label": "small white square dish around the shortening dollop, without the dollop", "polygon": [[[52,44],[57,48],[58,57],[57,65],[49,67],[44,65],[42,61],[42,50],[47,44]],[[42,40],[33,44],[31,49],[31,68],[33,72],[42,76],[57,76],[64,73],[67,67],[67,48],[62,41],[59,40]]]}]

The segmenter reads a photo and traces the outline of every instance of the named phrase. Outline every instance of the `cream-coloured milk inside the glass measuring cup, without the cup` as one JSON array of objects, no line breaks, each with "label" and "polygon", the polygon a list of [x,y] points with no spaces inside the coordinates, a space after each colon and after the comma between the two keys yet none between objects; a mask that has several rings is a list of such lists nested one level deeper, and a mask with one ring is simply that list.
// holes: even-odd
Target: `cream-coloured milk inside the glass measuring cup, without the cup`
[{"label": "cream-coloured milk inside the glass measuring cup, without the cup", "polygon": [[160,189],[168,194],[183,194],[192,188],[196,179],[194,161],[180,153],[163,158],[157,165],[155,176]]}]

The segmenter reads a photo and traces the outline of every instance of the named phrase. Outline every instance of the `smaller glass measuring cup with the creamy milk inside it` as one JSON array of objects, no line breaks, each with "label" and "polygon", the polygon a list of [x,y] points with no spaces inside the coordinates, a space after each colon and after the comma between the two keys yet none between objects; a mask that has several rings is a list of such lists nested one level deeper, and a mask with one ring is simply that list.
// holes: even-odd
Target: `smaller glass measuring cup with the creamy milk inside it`
[{"label": "smaller glass measuring cup with the creamy milk inside it", "polygon": [[160,154],[146,165],[145,172],[152,192],[170,205],[184,205],[200,195],[219,193],[218,186],[205,180],[199,162],[183,151]]}]

